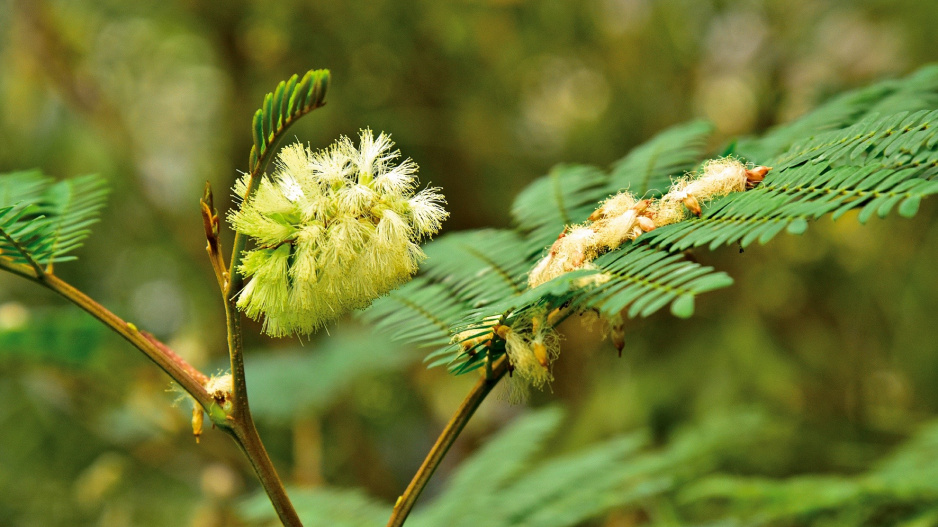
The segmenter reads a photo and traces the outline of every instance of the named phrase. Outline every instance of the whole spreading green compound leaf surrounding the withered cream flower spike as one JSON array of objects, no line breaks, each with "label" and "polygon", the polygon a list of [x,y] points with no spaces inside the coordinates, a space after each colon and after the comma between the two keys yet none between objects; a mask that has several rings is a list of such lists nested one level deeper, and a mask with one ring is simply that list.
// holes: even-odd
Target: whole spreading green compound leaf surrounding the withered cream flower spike
[{"label": "whole spreading green compound leaf surrounding the withered cream flower spike", "polygon": [[[903,100],[916,111],[873,113],[901,109]],[[938,105],[938,67],[844,95],[761,140],[743,140],[737,155],[774,167],[754,189],[704,203],[700,218],[655,229],[594,260],[590,269],[529,289],[525,274],[565,226],[586,221],[622,188],[659,195],[670,178],[703,160],[711,126],[694,122],[666,130],[609,175],[586,166],[557,167],[515,200],[520,236],[478,231],[429,244],[422,274],[376,302],[366,318],[397,338],[437,346],[427,357],[431,366],[464,373],[505,352],[499,339],[479,337],[518,317],[561,307],[644,317],[668,305],[675,316],[691,316],[696,295],[732,280],[677,251],[766,243],[782,231],[803,233],[825,214],[837,218],[851,210],[859,211],[861,222],[893,209],[914,215],[922,198],[938,193],[938,111],[924,110],[929,105]],[[451,342],[453,335],[459,342]]]}]

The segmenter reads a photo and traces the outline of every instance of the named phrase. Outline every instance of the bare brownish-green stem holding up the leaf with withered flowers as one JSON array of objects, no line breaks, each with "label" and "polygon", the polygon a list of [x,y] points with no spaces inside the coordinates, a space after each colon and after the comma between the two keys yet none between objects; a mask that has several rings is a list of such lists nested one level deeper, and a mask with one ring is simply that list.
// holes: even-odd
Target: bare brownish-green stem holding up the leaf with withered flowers
[{"label": "bare brownish-green stem holding up the leaf with withered flowers", "polygon": [[446,452],[453,446],[456,438],[459,437],[463,428],[466,427],[466,423],[468,423],[469,419],[475,414],[476,409],[479,408],[479,405],[482,404],[485,397],[492,391],[492,388],[498,384],[498,381],[505,376],[507,371],[508,361],[503,358],[492,366],[491,375],[480,378],[479,382],[472,387],[472,390],[466,395],[459,409],[456,410],[456,413],[453,414],[453,417],[450,418],[449,422],[446,424],[446,428],[443,429],[440,437],[437,438],[433,448],[430,449],[427,458],[423,460],[423,464],[420,465],[417,473],[414,474],[414,479],[410,481],[410,485],[407,485],[404,494],[397,499],[394,510],[391,512],[391,518],[388,520],[387,527],[400,527],[404,525],[404,521],[410,514],[411,509],[413,509],[414,504],[417,503],[417,498],[420,496],[420,493],[423,492],[424,487],[427,486],[427,482],[430,481],[433,472],[440,466],[440,462],[443,461]]}]

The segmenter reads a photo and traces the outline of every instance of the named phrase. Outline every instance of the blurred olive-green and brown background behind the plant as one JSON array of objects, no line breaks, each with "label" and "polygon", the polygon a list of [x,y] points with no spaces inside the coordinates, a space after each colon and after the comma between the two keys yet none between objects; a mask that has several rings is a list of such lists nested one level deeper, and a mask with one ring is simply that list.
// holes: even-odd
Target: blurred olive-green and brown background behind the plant
[{"label": "blurred olive-green and brown background behind the plant", "polygon": [[[443,188],[453,231],[507,226],[514,195],[556,163],[605,167],[693,118],[716,125],[718,152],[912,72],[938,60],[935,27],[938,6],[911,0],[0,0],[0,172],[104,175],[103,221],[57,273],[215,372],[224,319],[198,198],[210,181],[227,207],[251,116],[293,73],[329,68],[333,84],[292,136],[390,132]],[[926,203],[911,221],[821,221],[702,252],[736,285],[689,321],[630,322],[621,359],[568,323],[552,389],[487,401],[424,499],[544,405],[566,413],[547,458],[642,430],[667,445],[754,412],[771,433],[708,470],[865,473],[938,413],[936,220]],[[252,406],[296,488],[357,487],[389,506],[474,381],[352,320],[304,343],[257,329]],[[0,276],[0,525],[241,525],[250,467],[223,434],[196,444],[168,389],[90,317]],[[587,524],[680,525],[695,510],[665,495]]]}]

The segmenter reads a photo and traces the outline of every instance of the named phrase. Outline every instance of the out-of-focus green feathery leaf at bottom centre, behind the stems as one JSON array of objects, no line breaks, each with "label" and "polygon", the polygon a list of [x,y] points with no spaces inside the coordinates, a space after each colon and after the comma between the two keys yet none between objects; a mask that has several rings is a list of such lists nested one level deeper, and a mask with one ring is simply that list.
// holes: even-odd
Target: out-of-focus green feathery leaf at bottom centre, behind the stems
[{"label": "out-of-focus green feathery leaf at bottom centre, behind the stems", "polygon": [[[498,432],[467,458],[439,496],[418,507],[412,527],[571,527],[612,510],[647,510],[688,480],[712,472],[724,450],[751,446],[765,427],[751,414],[711,418],[676,434],[665,448],[651,448],[648,431],[625,434],[563,456],[544,452],[562,424],[548,408],[530,412]],[[546,459],[544,459],[546,458]],[[390,505],[357,490],[296,489],[300,517],[323,525],[380,524]],[[339,503],[342,506],[333,505]],[[272,521],[263,493],[242,502],[246,520]]]}]

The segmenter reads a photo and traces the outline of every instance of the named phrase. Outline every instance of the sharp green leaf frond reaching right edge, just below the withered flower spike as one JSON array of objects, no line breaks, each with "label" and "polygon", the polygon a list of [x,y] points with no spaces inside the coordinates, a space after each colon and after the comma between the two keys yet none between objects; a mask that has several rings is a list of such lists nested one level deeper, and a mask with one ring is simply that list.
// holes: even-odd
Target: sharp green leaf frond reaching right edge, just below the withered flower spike
[{"label": "sharp green leaf frond reaching right edge, just below the withered flower spike", "polygon": [[869,118],[796,144],[755,189],[716,200],[701,218],[668,225],[643,242],[669,250],[754,241],[787,230],[800,234],[807,220],[834,219],[860,209],[858,219],[885,217],[899,206],[906,217],[925,196],[938,193],[938,111]]}]

